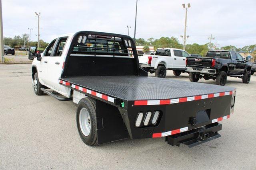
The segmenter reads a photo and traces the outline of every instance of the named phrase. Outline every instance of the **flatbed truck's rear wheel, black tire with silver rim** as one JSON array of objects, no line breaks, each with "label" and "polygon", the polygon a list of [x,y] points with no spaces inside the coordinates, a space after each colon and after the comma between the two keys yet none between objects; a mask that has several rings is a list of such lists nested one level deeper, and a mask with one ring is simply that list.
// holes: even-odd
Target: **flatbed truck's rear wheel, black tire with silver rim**
[{"label": "flatbed truck's rear wheel, black tire with silver rim", "polygon": [[76,125],[80,138],[86,145],[98,145],[96,102],[93,98],[86,97],[79,101],[76,110]]}]

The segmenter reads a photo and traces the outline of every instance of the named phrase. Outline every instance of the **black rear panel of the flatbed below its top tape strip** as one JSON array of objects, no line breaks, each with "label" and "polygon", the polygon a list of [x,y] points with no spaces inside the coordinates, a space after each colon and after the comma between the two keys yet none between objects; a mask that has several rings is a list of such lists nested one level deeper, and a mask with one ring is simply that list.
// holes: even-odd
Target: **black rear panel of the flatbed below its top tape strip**
[{"label": "black rear panel of the flatbed below its top tape strip", "polygon": [[[130,104],[128,104],[132,139],[165,137],[227,119],[234,109],[234,107],[231,109],[232,96],[234,95],[230,93],[226,96],[167,105],[134,105],[129,107]],[[135,128],[134,122],[138,112],[146,113],[156,110],[161,111],[160,121],[156,126]],[[195,125],[191,123],[191,119],[194,118],[196,119]]]}]

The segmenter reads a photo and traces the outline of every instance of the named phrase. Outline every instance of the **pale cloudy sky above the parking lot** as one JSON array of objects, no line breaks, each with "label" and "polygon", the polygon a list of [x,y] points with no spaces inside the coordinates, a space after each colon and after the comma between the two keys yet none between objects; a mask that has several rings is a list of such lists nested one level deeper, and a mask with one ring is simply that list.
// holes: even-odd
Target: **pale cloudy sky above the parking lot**
[{"label": "pale cloudy sky above the parking lot", "polygon": [[[187,44],[206,44],[212,34],[217,47],[238,48],[256,44],[256,0],[138,0],[136,39],[184,35],[185,9]],[[136,0],[2,0],[4,37],[29,34],[46,42],[58,35],[76,31],[101,31],[134,37]]]}]

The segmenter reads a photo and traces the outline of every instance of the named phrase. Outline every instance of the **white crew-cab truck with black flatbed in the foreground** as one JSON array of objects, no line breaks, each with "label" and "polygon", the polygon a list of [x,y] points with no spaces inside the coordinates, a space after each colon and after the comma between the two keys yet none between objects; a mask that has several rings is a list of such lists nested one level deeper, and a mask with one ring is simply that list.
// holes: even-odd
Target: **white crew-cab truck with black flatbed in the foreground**
[{"label": "white crew-cab truck with black flatbed in the foreground", "polygon": [[36,51],[30,47],[35,94],[73,100],[78,133],[89,146],[165,137],[192,147],[220,137],[218,121],[234,111],[236,88],[148,76],[127,35],[80,31]]}]

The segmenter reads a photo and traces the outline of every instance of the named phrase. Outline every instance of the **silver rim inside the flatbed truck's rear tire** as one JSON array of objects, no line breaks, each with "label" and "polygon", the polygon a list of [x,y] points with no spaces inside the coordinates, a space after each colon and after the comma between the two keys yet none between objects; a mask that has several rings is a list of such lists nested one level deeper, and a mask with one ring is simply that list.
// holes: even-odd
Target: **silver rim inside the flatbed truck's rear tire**
[{"label": "silver rim inside the flatbed truck's rear tire", "polygon": [[79,113],[79,125],[84,136],[88,136],[91,131],[91,118],[88,110],[82,108]]}]

